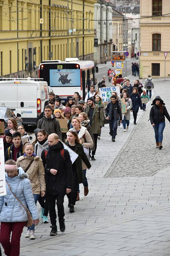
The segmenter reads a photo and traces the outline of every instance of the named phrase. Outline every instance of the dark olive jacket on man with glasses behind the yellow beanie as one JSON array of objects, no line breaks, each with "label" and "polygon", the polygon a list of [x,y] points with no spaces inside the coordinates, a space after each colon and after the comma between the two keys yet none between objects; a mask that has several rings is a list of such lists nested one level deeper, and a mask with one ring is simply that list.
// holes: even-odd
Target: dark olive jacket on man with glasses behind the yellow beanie
[{"label": "dark olive jacket on man with glasses behind the yellow beanie", "polygon": [[53,114],[51,115],[51,118],[46,118],[43,116],[38,121],[37,128],[46,130],[48,135],[51,133],[56,133],[59,139],[62,140],[60,124]]}]

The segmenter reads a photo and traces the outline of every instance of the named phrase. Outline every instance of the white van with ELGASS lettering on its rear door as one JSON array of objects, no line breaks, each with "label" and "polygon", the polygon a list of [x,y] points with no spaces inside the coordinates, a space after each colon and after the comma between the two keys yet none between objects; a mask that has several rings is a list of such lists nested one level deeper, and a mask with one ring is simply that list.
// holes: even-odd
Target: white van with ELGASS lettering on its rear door
[{"label": "white van with ELGASS lettering on its rear door", "polygon": [[36,118],[43,111],[49,91],[43,79],[1,78],[0,107],[11,108],[15,115],[21,114],[23,124],[37,124]]}]

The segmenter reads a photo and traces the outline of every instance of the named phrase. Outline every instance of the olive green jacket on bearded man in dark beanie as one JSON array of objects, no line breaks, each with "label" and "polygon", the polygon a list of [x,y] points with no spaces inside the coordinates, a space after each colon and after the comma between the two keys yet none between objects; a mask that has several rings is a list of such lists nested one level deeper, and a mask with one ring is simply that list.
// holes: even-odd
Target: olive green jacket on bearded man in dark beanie
[{"label": "olive green jacket on bearded man in dark beanie", "polygon": [[[100,133],[101,132],[101,127],[103,126],[103,111],[102,108],[98,104],[94,104],[94,112],[92,116],[92,132],[93,133]],[[88,116],[89,114],[89,108],[90,106],[87,105],[85,108],[85,112]]]}]

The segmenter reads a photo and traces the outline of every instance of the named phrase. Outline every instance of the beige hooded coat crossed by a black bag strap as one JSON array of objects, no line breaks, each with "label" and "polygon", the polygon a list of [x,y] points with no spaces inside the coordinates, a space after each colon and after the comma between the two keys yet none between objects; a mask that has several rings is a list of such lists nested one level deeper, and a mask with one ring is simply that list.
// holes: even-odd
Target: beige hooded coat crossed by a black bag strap
[{"label": "beige hooded coat crossed by a black bag strap", "polygon": [[17,166],[22,167],[25,171],[28,164],[34,158],[33,163],[30,168],[27,170],[26,174],[28,175],[28,179],[31,182],[33,194],[41,194],[41,191],[46,190],[45,185],[45,172],[44,166],[42,164],[42,159],[39,156],[29,157],[29,156],[20,156],[17,159]]}]

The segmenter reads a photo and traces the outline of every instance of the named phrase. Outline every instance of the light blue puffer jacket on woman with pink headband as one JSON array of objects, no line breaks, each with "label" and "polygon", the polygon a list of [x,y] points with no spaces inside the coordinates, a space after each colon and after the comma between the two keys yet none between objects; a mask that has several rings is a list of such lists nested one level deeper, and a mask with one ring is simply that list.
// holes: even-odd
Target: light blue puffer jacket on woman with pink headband
[{"label": "light blue puffer jacket on woman with pink headband", "polygon": [[[32,214],[33,220],[39,219],[39,214],[33,193],[30,180],[27,179],[27,174],[21,167],[18,168],[18,176],[10,178],[7,173],[6,180],[8,181],[12,192],[21,200]],[[12,195],[11,190],[6,184],[6,196],[0,196],[0,221],[1,222],[23,222],[27,221],[27,213],[17,199]]]}]

